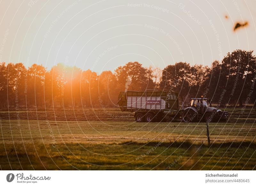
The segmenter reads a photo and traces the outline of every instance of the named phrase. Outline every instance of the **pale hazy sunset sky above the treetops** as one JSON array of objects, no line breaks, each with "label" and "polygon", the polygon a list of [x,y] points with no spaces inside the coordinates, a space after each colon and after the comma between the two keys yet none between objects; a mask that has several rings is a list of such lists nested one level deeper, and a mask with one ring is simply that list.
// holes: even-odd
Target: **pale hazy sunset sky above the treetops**
[{"label": "pale hazy sunset sky above the treetops", "polygon": [[[255,1],[0,1],[0,61],[114,71],[256,50]],[[248,22],[234,31],[234,25]],[[254,52],[254,54],[256,54]]]}]

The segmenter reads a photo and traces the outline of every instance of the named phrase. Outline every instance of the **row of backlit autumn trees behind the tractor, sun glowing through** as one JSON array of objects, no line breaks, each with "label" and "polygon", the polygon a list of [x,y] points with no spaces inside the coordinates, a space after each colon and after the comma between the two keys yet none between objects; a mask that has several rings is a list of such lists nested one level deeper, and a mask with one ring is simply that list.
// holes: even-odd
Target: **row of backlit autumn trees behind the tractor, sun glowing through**
[{"label": "row of backlit autumn trees behind the tractor, sun glowing through", "polygon": [[115,107],[120,91],[170,90],[180,101],[190,97],[212,99],[219,106],[254,104],[256,57],[253,51],[235,50],[210,67],[177,62],[163,70],[128,62],[99,75],[59,63],[47,70],[33,64],[0,63],[0,108]]}]

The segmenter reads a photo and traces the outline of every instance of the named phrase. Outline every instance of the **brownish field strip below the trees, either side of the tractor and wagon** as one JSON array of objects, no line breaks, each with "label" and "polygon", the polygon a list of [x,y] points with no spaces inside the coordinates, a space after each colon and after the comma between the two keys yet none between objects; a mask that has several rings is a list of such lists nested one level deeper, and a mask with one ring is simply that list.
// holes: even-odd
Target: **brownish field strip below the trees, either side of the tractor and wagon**
[{"label": "brownish field strip below the trees, either side of the tractor and wagon", "polygon": [[[254,123],[256,118],[256,111],[252,108],[245,108],[241,114],[241,108],[220,108],[228,111],[228,122],[250,122]],[[0,111],[0,118],[17,120],[17,112]],[[19,118],[22,120],[57,120],[57,121],[129,121],[133,122],[134,113],[121,112],[118,109],[109,109],[103,111],[102,109],[94,109],[92,111],[19,111]]]}]

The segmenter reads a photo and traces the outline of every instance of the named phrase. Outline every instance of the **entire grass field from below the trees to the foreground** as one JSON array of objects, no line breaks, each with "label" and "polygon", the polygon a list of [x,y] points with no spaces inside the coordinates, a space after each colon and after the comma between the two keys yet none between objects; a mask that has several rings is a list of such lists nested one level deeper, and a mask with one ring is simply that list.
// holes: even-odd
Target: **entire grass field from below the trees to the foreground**
[{"label": "entire grass field from below the trees to the foreground", "polygon": [[255,111],[227,123],[135,123],[118,110],[0,112],[2,170],[255,170]]}]

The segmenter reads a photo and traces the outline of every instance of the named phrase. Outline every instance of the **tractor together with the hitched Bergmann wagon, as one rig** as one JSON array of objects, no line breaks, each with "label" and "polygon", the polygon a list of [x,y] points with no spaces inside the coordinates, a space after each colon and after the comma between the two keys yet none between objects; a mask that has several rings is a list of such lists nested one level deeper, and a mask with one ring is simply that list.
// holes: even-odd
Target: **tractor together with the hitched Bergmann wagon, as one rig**
[{"label": "tractor together with the hitched Bergmann wagon, as one rig", "polygon": [[226,122],[228,111],[211,105],[211,100],[191,98],[188,107],[179,108],[178,93],[172,91],[122,91],[118,96],[121,111],[134,112],[136,122]]}]

